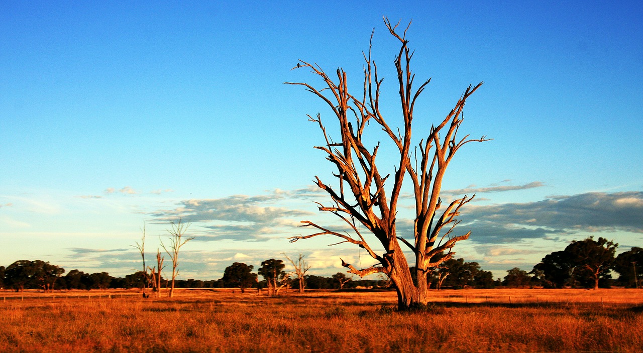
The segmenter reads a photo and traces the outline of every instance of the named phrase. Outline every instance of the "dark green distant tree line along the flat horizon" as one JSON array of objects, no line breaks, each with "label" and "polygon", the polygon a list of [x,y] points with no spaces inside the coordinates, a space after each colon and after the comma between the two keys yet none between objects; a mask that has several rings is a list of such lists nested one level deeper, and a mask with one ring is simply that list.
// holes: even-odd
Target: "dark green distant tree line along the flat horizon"
[{"label": "dark green distant tree line along the flat horizon", "polygon": [[[466,262],[464,258],[451,258],[431,269],[427,282],[431,289],[463,289],[505,287],[545,287],[545,288],[598,288],[641,287],[641,266],[643,248],[631,248],[615,256],[618,244],[604,238],[594,240],[574,240],[565,249],[554,251],[527,272],[518,267],[507,271],[501,280],[494,280],[490,271],[480,268],[478,262]],[[440,255],[438,255],[440,256]],[[237,288],[240,292],[248,289],[260,291],[266,289],[268,295],[278,295],[284,288],[298,287],[306,289],[390,289],[392,283],[388,278],[376,280],[352,278],[338,272],[330,277],[306,275],[310,268],[303,260],[287,260],[294,266],[294,271],[285,271],[283,260],[270,258],[261,262],[257,273],[254,266],[234,262],[226,267],[222,278],[218,280],[176,280],[179,288]],[[619,274],[612,278],[612,273]],[[412,271],[414,273],[415,271]],[[262,279],[259,278],[262,277]],[[84,273],[65,269],[42,260],[19,260],[8,267],[0,266],[0,288],[23,291],[24,289],[116,289],[143,288],[150,281],[150,273],[138,271],[125,277],[113,277],[107,272]],[[159,283],[169,287],[170,280],[159,277]]]}]

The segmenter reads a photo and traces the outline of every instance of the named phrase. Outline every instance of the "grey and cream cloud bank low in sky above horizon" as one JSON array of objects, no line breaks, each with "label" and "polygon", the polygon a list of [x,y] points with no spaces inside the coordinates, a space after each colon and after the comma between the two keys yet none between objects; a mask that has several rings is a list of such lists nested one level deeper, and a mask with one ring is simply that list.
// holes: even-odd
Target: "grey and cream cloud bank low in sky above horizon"
[{"label": "grey and cream cloud bank low in sky above horizon", "polygon": [[[526,185],[542,185],[534,182]],[[523,186],[498,190],[489,186],[476,192],[509,192]],[[487,191],[482,191],[487,190]],[[186,275],[203,276],[204,271],[222,273],[233,261],[257,265],[266,258],[284,257],[284,253],[305,253],[315,268],[312,273],[329,275],[342,271],[338,258],[360,261],[350,246],[327,248],[333,237],[320,238],[317,242],[299,242],[303,248],[287,244],[287,237],[300,230],[296,228],[303,218],[322,217],[329,228],[350,231],[333,217],[321,213],[293,208],[291,201],[311,203],[323,201],[324,195],[314,186],[293,191],[273,190],[262,195],[231,195],[221,199],[189,199],[176,203],[176,208],[150,212],[150,223],[167,224],[169,221],[190,223],[189,232],[197,235],[201,244],[221,244],[232,241],[227,248],[208,251],[207,245],[186,246],[183,256]],[[611,235],[631,233],[638,239],[622,242],[622,249],[637,246],[643,236],[643,192],[588,192],[577,195],[552,195],[541,201],[528,203],[473,204],[467,205],[464,220],[456,231],[471,230],[472,235],[462,245],[468,248],[466,260],[477,260],[487,269],[504,268],[511,264],[533,266],[550,251],[564,248],[566,242],[584,239],[589,235],[612,239]],[[412,230],[412,221],[399,219],[399,233]],[[160,236],[161,238],[163,235]],[[367,238],[368,240],[368,238]],[[370,237],[372,244],[377,240]],[[534,240],[537,240],[534,243]],[[153,241],[153,240],[152,240]],[[261,246],[260,244],[266,244]],[[547,246],[548,243],[552,243]],[[534,244],[540,244],[534,247]],[[557,244],[557,245],[556,245]],[[321,245],[321,246],[320,246]],[[460,252],[460,246],[454,250]],[[197,248],[197,249],[195,249]],[[376,246],[377,248],[377,246]],[[133,249],[69,248],[73,263],[92,268],[109,268],[118,263],[138,261]],[[477,255],[474,255],[477,254]],[[473,256],[473,257],[471,257]],[[370,260],[370,259],[369,259]],[[230,262],[230,263],[228,263]],[[93,264],[93,265],[92,265]],[[132,268],[135,268],[132,267]]]}]

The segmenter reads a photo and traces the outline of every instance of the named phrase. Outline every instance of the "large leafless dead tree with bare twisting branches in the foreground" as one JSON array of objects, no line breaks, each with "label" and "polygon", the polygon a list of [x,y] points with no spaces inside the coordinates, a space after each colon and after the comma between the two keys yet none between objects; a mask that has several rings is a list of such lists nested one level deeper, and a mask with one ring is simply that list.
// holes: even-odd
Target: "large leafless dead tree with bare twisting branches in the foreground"
[{"label": "large leafless dead tree with bare twisting branches in the foreground", "polygon": [[[457,100],[455,107],[431,126],[428,136],[413,142],[411,138],[413,108],[430,79],[413,90],[415,75],[410,69],[413,52],[408,48],[406,39],[408,27],[402,34],[397,32],[397,24],[391,24],[385,17],[388,32],[400,43],[399,53],[394,64],[399,85],[401,102],[401,121],[389,125],[380,110],[380,94],[383,78],[377,73],[377,65],[371,59],[373,34],[371,34],[368,53],[364,53],[365,66],[363,91],[352,95],[348,89],[347,74],[337,69],[336,80],[333,80],[318,64],[300,60],[299,68],[308,68],[311,73],[320,77],[323,86],[319,89],[307,83],[286,84],[301,85],[325,102],[340,125],[340,139],[332,140],[326,131],[321,115],[315,118],[309,115],[312,122],[319,125],[325,145],[315,147],[327,154],[327,159],[336,167],[334,176],[338,185],[331,185],[315,177],[315,183],[331,197],[331,204],[319,204],[319,210],[331,212],[349,225],[354,235],[325,228],[312,221],[302,221],[303,227],[315,228],[310,235],[291,237],[291,242],[308,239],[318,235],[340,237],[341,243],[349,242],[363,248],[377,264],[367,268],[356,268],[342,260],[342,266],[360,277],[373,273],[385,273],[397,288],[399,309],[428,302],[427,275],[429,269],[437,267],[453,255],[451,248],[459,240],[467,239],[470,231],[463,235],[453,235],[458,224],[457,216],[462,206],[469,203],[473,196],[464,195],[451,201],[446,207],[442,205],[440,188],[446,168],[460,148],[472,141],[487,141],[485,136],[469,139],[469,135],[460,136],[460,125],[464,117],[462,111],[465,102],[482,85],[469,86]],[[410,26],[410,23],[409,23]],[[293,68],[296,69],[296,68]],[[380,127],[390,138],[397,155],[397,167],[392,173],[381,171],[376,164],[380,144],[367,146],[365,131],[368,126]],[[399,127],[398,127],[399,126]],[[408,175],[412,183],[415,201],[415,219],[412,234],[398,234],[396,217],[404,177]],[[408,180],[408,179],[406,179]],[[442,212],[439,213],[439,209]],[[383,246],[384,253],[377,253],[366,238],[368,232]],[[410,249],[415,259],[417,280],[413,280],[410,267],[403,253],[402,245]],[[447,255],[431,262],[433,255],[444,251]]]}]

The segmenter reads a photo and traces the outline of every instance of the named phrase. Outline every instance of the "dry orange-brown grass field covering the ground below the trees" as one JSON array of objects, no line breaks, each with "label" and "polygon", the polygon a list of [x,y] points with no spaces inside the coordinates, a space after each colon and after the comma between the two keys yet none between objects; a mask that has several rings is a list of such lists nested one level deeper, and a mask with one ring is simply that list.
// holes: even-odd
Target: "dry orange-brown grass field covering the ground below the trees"
[{"label": "dry orange-brown grass field covering the ground below the trees", "polygon": [[0,292],[0,352],[643,352],[641,293],[440,291],[399,313],[394,292]]}]

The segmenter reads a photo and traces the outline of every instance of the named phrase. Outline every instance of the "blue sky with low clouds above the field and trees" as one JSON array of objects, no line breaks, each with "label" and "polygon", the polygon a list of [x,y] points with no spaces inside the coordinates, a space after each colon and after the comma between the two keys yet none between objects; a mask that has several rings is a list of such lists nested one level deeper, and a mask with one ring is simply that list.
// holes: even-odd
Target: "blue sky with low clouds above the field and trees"
[{"label": "blue sky with low clouds above the field and trees", "polygon": [[643,246],[640,2],[0,1],[0,265],[125,275],[140,267],[143,222],[151,258],[178,217],[197,236],[182,278],[282,253],[321,275],[343,271],[340,256],[367,262],[327,247],[335,239],[286,240],[303,219],[337,222],[312,203],[327,201],[311,181],[332,165],[306,117],[331,112],[283,83],[320,84],[291,70],[302,59],[341,66],[359,88],[375,28],[397,124],[398,48],[382,15],[413,20],[413,71],[432,78],[414,136],[485,82],[463,129],[494,140],[458,152],[443,187],[478,195],[458,257],[503,276],[589,235]]}]

